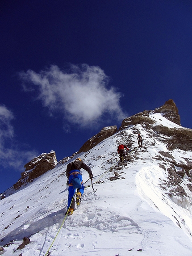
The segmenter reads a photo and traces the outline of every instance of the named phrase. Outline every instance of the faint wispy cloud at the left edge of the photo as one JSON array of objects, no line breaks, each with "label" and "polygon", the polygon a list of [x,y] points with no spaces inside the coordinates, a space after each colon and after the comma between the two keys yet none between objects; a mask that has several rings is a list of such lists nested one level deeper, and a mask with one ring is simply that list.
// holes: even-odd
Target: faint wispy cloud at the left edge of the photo
[{"label": "faint wispy cloud at the left edge of the photo", "polygon": [[22,151],[17,146],[14,128],[11,121],[14,119],[12,111],[0,105],[0,166],[11,167],[23,171],[24,164],[37,156],[35,151]]}]

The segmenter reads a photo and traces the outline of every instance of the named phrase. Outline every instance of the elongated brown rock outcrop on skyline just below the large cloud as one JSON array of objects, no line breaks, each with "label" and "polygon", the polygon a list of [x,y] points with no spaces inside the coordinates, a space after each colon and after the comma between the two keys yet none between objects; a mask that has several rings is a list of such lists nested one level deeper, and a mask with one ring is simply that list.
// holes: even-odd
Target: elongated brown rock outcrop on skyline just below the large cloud
[{"label": "elongated brown rock outcrop on skyline just below the large cloud", "polygon": [[98,143],[103,141],[105,138],[109,138],[114,133],[117,132],[117,126],[107,126],[104,127],[98,134],[90,138],[83,146],[79,149],[78,153],[80,152],[87,152],[93,147],[95,147]]}]

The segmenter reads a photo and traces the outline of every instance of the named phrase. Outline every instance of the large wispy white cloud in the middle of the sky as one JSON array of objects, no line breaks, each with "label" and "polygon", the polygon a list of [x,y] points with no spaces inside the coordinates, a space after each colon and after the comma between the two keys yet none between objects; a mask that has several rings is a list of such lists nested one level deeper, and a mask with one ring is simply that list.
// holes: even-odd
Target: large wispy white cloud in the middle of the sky
[{"label": "large wispy white cloud in the middle of the sky", "polygon": [[108,88],[109,77],[100,67],[72,65],[62,71],[52,65],[36,73],[20,73],[25,90],[38,88],[38,99],[50,110],[62,111],[67,121],[80,126],[98,122],[104,115],[121,121],[126,117],[120,106],[121,93]]}]

